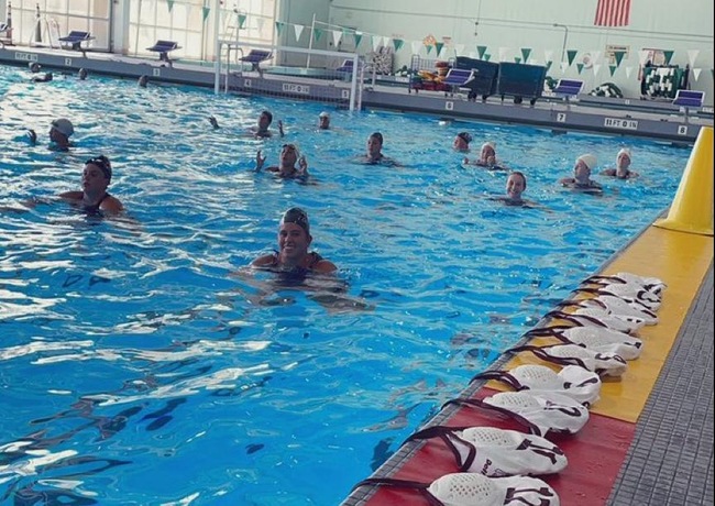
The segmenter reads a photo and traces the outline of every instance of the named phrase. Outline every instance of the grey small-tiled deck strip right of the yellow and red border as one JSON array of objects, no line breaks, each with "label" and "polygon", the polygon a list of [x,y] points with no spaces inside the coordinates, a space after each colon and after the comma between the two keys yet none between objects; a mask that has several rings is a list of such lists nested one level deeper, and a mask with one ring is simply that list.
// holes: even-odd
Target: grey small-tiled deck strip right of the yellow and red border
[{"label": "grey small-tiled deck strip right of the yellow and red border", "polygon": [[713,265],[636,425],[612,506],[713,504]]}]

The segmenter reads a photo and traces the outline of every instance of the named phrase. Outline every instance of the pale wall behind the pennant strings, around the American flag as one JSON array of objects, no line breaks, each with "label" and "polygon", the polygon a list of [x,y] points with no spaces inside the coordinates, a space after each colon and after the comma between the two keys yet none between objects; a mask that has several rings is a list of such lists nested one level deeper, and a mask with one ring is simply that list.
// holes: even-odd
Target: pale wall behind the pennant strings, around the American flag
[{"label": "pale wall behind the pennant strings, around the American flag", "polygon": [[[586,90],[614,82],[631,98],[640,95],[641,50],[674,51],[671,64],[681,67],[690,63],[689,52],[697,51],[691,88],[705,91],[706,102],[713,103],[713,0],[631,0],[629,25],[610,29],[593,25],[596,3],[597,0],[332,0],[330,21],[358,26],[366,33],[404,38],[405,45],[396,54],[398,67],[409,64],[413,41],[430,34],[438,41],[449,36],[454,46],[464,46],[460,53],[464,56],[476,53],[477,45],[487,46],[492,62],[498,62],[501,54],[513,62],[515,56],[521,56],[522,47],[528,47],[532,50],[529,63],[543,65],[544,51],[550,51],[556,62],[550,76],[583,79]],[[568,32],[553,26],[554,23],[565,25]],[[579,53],[574,64],[562,72],[558,62],[566,34],[566,50]],[[603,57],[607,44],[630,50],[613,76]],[[369,51],[369,45],[363,42],[361,47]],[[591,69],[579,74],[575,64],[582,62],[585,53],[596,52],[602,57]],[[435,52],[428,56],[424,46],[420,55],[435,58]],[[454,47],[443,55],[454,56]]]}]

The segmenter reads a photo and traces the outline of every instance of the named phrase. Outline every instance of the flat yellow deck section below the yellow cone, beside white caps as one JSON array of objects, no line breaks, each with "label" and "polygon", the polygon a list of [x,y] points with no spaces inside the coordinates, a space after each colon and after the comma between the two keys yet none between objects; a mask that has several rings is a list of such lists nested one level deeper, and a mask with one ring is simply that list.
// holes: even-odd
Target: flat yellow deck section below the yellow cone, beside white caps
[{"label": "flat yellow deck section below the yellow cone, beside white caps", "polygon": [[[601,400],[591,408],[592,413],[624,421],[638,420],[712,261],[713,237],[649,227],[603,270],[602,274],[628,272],[658,277],[668,288],[658,311],[659,323],[639,331],[644,340],[640,358],[628,362],[628,371],[620,378],[605,378]],[[559,341],[538,339],[529,344],[556,342]],[[532,353],[522,352],[504,369],[521,364],[544,363]],[[505,389],[497,382],[490,382],[488,386]]]}]

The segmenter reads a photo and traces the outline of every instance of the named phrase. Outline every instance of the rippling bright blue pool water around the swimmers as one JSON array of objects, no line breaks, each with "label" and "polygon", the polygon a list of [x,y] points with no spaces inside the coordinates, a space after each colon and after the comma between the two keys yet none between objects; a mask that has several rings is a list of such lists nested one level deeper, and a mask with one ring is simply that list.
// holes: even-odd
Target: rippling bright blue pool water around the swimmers
[{"label": "rippling bright blue pool water around the swimmers", "polygon": [[[326,106],[28,77],[0,67],[0,207],[78,188],[105,153],[131,222],[0,215],[0,503],[339,503],[662,212],[690,154],[383,112],[331,110],[317,132]],[[251,172],[285,142],[243,135],[266,108],[310,184]],[[70,153],[46,148],[56,117],[75,123]],[[352,162],[376,130],[405,167]],[[506,175],[461,167],[460,130],[495,141],[542,207],[490,200]],[[596,176],[602,197],[556,185],[578,154],[603,167],[622,145],[642,177]],[[233,275],[292,206],[344,293]]]}]

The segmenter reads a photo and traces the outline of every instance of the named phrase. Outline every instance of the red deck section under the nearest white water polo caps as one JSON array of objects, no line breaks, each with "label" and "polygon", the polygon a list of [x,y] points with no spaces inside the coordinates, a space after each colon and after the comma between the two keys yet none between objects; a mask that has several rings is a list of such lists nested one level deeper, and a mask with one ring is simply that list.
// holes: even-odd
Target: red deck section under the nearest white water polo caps
[{"label": "red deck section under the nearest white water polo caps", "polygon": [[[474,398],[484,398],[496,391],[482,388]],[[490,411],[461,407],[446,424],[450,427],[497,427],[527,432],[526,428],[508,418]],[[549,436],[569,459],[569,465],[557,475],[541,476],[551,485],[564,506],[596,506],[606,503],[634,438],[634,424],[591,414],[588,422],[573,436]],[[430,483],[438,477],[458,472],[454,457],[439,440],[425,444],[402,469],[395,479]],[[377,487],[369,506],[428,504],[417,493],[393,487]]]}]

